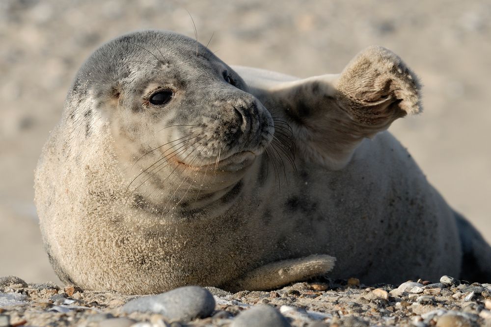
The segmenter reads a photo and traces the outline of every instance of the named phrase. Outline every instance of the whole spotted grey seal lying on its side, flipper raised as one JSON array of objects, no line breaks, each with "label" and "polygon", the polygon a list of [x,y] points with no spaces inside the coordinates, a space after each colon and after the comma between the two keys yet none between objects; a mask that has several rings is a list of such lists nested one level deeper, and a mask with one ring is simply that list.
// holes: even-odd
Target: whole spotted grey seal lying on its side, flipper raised
[{"label": "whole spotted grey seal lying on its side, flipper raised", "polygon": [[489,281],[490,246],[385,131],[419,110],[416,76],[381,47],[299,79],[173,32],[123,35],[83,64],[39,159],[46,251],[64,282],[133,294]]}]

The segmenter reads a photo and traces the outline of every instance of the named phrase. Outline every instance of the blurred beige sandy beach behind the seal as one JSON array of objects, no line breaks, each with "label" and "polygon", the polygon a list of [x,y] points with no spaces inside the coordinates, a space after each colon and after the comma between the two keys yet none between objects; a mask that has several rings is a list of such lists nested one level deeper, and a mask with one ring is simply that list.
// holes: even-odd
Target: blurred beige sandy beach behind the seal
[{"label": "blurred beige sandy beach behind the seal", "polygon": [[[33,204],[33,170],[71,80],[101,43],[142,28],[198,39],[229,64],[306,77],[361,49],[398,53],[425,112],[391,131],[491,241],[491,2],[0,0],[0,276],[58,281]],[[78,242],[77,239],[73,240]]]}]

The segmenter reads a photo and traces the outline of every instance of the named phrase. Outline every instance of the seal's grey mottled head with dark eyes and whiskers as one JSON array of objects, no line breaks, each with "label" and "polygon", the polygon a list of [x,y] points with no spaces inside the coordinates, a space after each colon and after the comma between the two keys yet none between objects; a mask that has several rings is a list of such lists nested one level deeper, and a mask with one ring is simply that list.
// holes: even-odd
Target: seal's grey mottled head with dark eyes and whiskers
[{"label": "seal's grey mottled head with dark eyes and whiskers", "polygon": [[[270,113],[242,78],[172,32],[138,31],[96,50],[75,79],[67,114],[86,98],[97,103],[83,115],[110,124],[122,170],[133,179],[130,191],[150,188],[145,193],[158,196],[165,185],[177,199],[180,192],[225,189],[273,138]],[[90,125],[85,129],[90,136]],[[179,188],[183,176],[186,187]]]}]

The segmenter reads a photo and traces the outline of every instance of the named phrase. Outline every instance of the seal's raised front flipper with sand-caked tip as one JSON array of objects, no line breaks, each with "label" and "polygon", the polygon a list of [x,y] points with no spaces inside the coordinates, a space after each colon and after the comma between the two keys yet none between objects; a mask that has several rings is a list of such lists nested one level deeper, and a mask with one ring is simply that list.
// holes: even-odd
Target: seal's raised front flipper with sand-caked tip
[{"label": "seal's raised front flipper with sand-caked tip", "polygon": [[234,69],[273,117],[292,127],[302,157],[331,169],[343,168],[363,138],[421,110],[416,76],[382,47],[360,52],[339,75],[296,79]]}]

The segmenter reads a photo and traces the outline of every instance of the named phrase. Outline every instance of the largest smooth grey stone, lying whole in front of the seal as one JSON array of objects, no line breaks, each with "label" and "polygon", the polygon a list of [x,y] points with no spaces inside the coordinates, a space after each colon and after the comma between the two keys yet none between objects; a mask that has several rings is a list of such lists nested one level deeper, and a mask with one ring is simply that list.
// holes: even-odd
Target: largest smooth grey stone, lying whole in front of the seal
[{"label": "largest smooth grey stone, lying whole in front of the seal", "polygon": [[213,295],[199,286],[179,287],[162,294],[139,298],[126,303],[123,311],[153,312],[169,321],[188,322],[194,318],[209,317],[215,309]]}]

